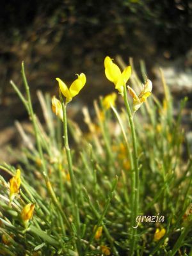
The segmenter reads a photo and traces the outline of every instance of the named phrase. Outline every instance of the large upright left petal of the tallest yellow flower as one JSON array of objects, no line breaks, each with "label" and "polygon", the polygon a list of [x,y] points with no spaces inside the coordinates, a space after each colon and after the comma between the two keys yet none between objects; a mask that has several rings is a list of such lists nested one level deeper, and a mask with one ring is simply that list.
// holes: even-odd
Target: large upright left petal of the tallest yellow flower
[{"label": "large upright left petal of the tallest yellow flower", "polygon": [[106,77],[109,81],[116,84],[121,76],[120,68],[108,56],[104,60],[104,66]]}]

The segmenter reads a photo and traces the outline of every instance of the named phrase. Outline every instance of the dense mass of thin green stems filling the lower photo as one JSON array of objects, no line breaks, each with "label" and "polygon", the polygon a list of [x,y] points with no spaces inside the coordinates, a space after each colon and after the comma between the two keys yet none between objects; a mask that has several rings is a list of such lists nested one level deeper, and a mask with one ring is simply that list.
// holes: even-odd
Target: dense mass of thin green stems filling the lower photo
[{"label": "dense mass of thin green stems filling the lower photo", "polygon": [[[132,70],[131,86],[138,92],[141,81],[134,67]],[[28,134],[22,130],[26,147],[18,156],[17,166],[21,187],[11,204],[9,183],[0,176],[1,255],[101,255],[106,253],[102,246],[108,246],[111,255],[175,255],[178,251],[190,255],[191,153],[184,161],[182,152],[187,141],[180,125],[186,99],[174,118],[172,95],[163,74],[163,102],[152,95],[133,117],[127,113],[132,99],[126,102],[124,97],[125,108],[118,110],[105,109],[102,99],[94,102],[94,120],[88,108],[83,108],[88,132],[68,120],[72,150],[68,147],[65,106],[62,138],[63,124],[51,111],[49,95],[38,93],[45,117],[43,127],[33,112],[23,65],[22,76],[27,98],[12,85],[29,113],[33,131]],[[136,159],[132,154],[134,146]],[[132,184],[136,173],[132,157],[138,161],[136,186]],[[15,175],[14,166],[0,167]],[[139,191],[138,209],[133,205],[134,189]],[[30,202],[35,204],[35,212],[28,227],[24,227],[20,212]],[[143,221],[138,228],[132,228],[132,221],[137,224],[131,219],[135,213],[159,214],[164,222]],[[102,234],[96,239],[99,227]],[[155,241],[157,228],[164,228],[166,233]]]}]

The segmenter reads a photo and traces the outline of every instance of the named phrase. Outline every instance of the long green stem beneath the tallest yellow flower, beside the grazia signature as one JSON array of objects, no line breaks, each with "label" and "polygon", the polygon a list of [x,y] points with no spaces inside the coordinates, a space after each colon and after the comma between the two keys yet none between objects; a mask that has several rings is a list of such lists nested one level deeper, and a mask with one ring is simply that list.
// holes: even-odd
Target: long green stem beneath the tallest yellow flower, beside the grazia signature
[{"label": "long green stem beneath the tallest yellow flower, beside the grazia signature", "polygon": [[[127,110],[128,118],[129,118],[129,124],[131,127],[131,137],[132,137],[132,148],[133,148],[133,164],[134,164],[134,170],[132,172],[132,200],[131,200],[131,228],[134,227],[134,220],[136,220],[136,216],[138,216],[138,210],[139,210],[139,199],[140,199],[140,177],[139,177],[139,168],[138,168],[138,151],[137,151],[137,142],[136,142],[136,132],[134,129],[134,122],[133,122],[133,116],[131,113],[131,109],[129,106],[129,102],[127,99],[127,90],[126,86],[124,85],[124,102],[125,102],[125,108]],[[131,254],[134,255],[135,245],[136,245],[136,228],[134,228],[131,232]]]}]

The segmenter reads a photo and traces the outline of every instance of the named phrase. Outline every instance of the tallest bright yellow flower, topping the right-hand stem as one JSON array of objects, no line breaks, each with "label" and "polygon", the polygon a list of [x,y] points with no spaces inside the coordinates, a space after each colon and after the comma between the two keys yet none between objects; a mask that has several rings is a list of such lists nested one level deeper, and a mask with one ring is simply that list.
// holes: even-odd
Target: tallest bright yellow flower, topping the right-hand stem
[{"label": "tallest bright yellow flower, topping the right-hand stem", "polygon": [[124,85],[131,76],[131,66],[125,67],[124,71],[121,72],[120,68],[107,56],[104,60],[104,67],[108,80],[115,84],[115,89],[117,89],[118,92],[123,93]]}]

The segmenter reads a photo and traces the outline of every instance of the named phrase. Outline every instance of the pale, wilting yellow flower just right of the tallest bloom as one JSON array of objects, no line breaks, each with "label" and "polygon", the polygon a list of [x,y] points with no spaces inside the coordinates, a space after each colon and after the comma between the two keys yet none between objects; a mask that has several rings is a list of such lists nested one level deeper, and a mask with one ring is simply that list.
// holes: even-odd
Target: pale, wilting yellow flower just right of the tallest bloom
[{"label": "pale, wilting yellow flower just right of the tallest bloom", "polygon": [[147,79],[145,85],[143,85],[143,90],[139,96],[136,95],[136,92],[134,92],[134,90],[130,86],[127,86],[127,87],[133,99],[133,110],[135,112],[141,107],[143,102],[147,100],[148,96],[151,95],[152,82],[149,79]]}]

